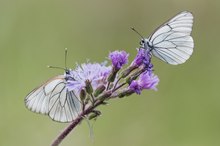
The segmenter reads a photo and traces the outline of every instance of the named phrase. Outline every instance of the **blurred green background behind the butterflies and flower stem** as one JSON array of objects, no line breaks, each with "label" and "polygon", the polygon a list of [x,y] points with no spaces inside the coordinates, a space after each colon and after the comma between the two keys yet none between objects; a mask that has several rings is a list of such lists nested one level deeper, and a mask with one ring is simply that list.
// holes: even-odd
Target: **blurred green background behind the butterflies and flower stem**
[{"label": "blurred green background behind the butterflies and flower stem", "polygon": [[63,146],[219,146],[220,1],[1,0],[0,145],[47,146],[67,126],[34,114],[24,97],[63,72],[46,68],[87,59],[103,61],[116,49],[135,56],[145,36],[180,11],[193,12],[195,49],[183,65],[153,59],[158,91],[145,91],[99,108],[92,125],[78,126]]}]

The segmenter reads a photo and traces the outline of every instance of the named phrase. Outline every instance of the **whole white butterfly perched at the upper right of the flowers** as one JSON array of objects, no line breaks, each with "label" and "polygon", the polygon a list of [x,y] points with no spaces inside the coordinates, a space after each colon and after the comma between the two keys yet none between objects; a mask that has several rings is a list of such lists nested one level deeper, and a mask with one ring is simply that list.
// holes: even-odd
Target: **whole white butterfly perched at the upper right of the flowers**
[{"label": "whole white butterfly perched at the upper right of the flowers", "polygon": [[142,48],[168,64],[178,65],[193,53],[192,25],[192,13],[184,11],[158,27],[147,39],[132,29],[142,37]]}]

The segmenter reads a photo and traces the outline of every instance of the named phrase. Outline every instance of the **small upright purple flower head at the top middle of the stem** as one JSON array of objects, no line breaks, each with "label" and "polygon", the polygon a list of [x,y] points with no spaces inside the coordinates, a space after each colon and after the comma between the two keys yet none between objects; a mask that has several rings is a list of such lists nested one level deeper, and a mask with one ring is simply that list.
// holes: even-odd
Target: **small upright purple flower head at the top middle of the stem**
[{"label": "small upright purple flower head at the top middle of the stem", "polygon": [[114,51],[109,54],[109,59],[116,70],[121,69],[124,64],[128,63],[129,54],[125,51]]}]

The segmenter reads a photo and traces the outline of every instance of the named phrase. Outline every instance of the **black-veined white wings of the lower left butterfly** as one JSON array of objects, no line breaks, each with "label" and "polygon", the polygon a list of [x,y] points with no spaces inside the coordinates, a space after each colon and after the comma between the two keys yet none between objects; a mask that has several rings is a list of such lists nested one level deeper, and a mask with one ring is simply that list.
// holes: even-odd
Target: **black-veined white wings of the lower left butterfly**
[{"label": "black-veined white wings of the lower left butterfly", "polygon": [[25,98],[25,105],[31,111],[47,114],[58,122],[71,122],[81,111],[81,102],[74,91],[67,91],[63,75],[31,91]]}]

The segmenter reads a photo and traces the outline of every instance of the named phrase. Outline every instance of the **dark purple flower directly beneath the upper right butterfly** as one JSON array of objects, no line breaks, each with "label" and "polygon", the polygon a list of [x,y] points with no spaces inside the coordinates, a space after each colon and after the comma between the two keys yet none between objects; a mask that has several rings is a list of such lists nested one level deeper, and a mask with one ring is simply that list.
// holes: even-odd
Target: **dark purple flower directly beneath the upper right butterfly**
[{"label": "dark purple flower directly beneath the upper right butterfly", "polygon": [[131,66],[139,67],[143,64],[146,67],[152,66],[150,53],[144,48],[138,48],[137,51],[138,54],[136,55],[134,61],[131,63]]}]

